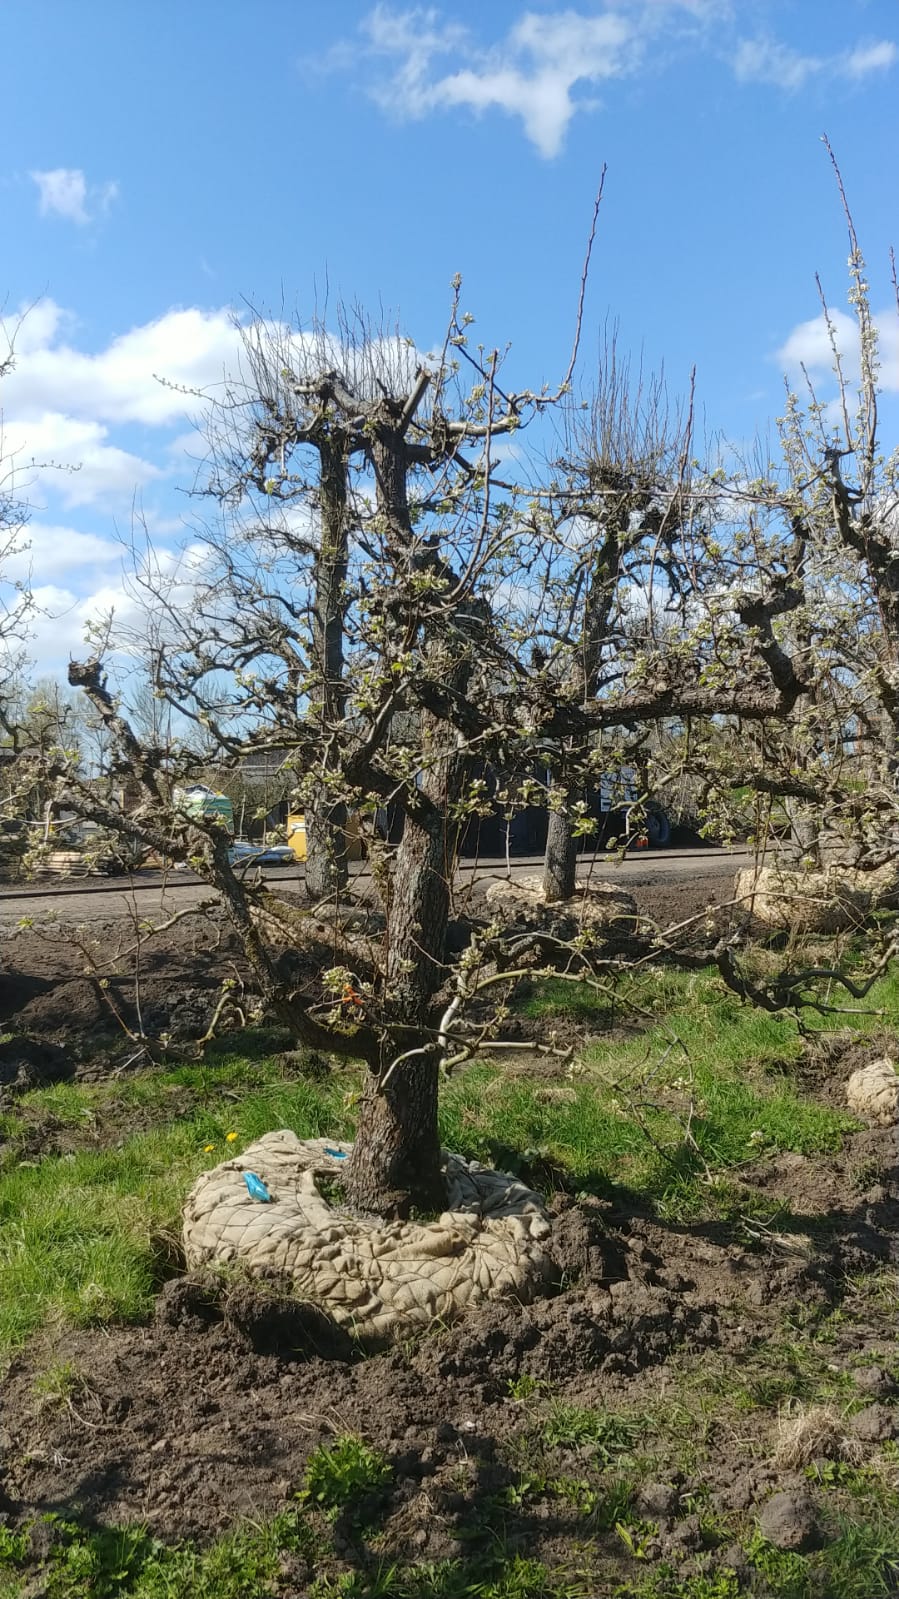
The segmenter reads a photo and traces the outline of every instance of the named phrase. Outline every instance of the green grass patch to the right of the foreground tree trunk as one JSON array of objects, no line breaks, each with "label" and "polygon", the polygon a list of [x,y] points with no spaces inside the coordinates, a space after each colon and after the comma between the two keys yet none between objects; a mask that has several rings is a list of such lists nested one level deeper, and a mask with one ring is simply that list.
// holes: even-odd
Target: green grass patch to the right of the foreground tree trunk
[{"label": "green grass patch to the right of the foreground tree trunk", "polygon": [[[566,1009],[577,1014],[587,1001],[561,982],[542,985],[528,1009],[558,1014],[571,991]],[[584,1188],[617,1183],[686,1218],[715,1210],[697,1183],[705,1166],[725,1174],[777,1150],[832,1153],[856,1126],[795,1091],[801,1039],[789,1017],[741,1006],[707,972],[657,969],[624,991],[648,1012],[643,1033],[593,1044],[555,1094],[494,1067],[469,1070],[445,1095],[445,1142],[512,1169],[542,1164]]]}]

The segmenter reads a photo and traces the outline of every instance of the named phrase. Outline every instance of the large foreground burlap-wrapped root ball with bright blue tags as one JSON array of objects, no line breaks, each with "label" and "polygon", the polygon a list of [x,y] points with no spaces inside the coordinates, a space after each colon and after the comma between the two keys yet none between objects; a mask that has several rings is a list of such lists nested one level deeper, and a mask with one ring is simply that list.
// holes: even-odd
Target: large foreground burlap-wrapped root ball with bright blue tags
[{"label": "large foreground burlap-wrapped root ball with bright blue tags", "polygon": [[[205,1172],[184,1206],[190,1270],[216,1263],[278,1274],[363,1343],[384,1343],[494,1298],[523,1303],[558,1276],[542,1201],[502,1172],[446,1156],[446,1210],[435,1222],[381,1222],[331,1206],[349,1143],[269,1132]],[[259,1177],[270,1204],[251,1198]]]}]

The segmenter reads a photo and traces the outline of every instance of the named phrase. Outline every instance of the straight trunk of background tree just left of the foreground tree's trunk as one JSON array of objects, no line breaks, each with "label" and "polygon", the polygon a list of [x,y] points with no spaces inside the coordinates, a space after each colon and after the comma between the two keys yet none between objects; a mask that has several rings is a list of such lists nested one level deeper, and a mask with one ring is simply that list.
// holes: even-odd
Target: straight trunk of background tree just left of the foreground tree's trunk
[{"label": "straight trunk of background tree just left of the foreground tree's trunk", "polygon": [[[349,566],[347,453],[339,433],[317,440],[320,461],[322,544],[315,561],[312,660],[320,705],[323,771],[339,764],[334,734],[344,720],[344,606]],[[333,755],[331,755],[333,752]],[[306,891],[315,899],[347,884],[347,807],[336,803],[326,780],[312,780],[306,800]]]}]

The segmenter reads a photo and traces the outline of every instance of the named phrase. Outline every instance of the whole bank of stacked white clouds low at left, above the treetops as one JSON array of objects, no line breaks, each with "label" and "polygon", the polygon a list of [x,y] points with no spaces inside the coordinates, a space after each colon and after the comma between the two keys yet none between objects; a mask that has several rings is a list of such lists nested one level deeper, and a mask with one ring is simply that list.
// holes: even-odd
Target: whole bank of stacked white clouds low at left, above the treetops
[{"label": "whole bank of stacked white clouds low at left, above the treetops", "polygon": [[[203,544],[178,548],[186,536],[178,510],[189,516],[189,507],[171,497],[176,483],[190,488],[206,454],[203,433],[184,421],[194,414],[202,425],[205,395],[240,397],[254,339],[262,353],[275,352],[275,371],[341,368],[365,393],[378,393],[379,379],[408,387],[427,361],[402,337],[366,339],[362,325],[358,347],[347,349],[325,331],[272,320],[242,329],[227,307],[170,310],[98,350],[78,349],[77,318],[51,299],[0,321],[0,347],[5,331],[16,339],[16,368],[2,389],[0,465],[34,516],[0,579],[30,582],[38,609],[29,656],[35,670],[61,673],[104,612],[139,633],[149,612],[165,627],[166,616],[190,616],[202,603],[210,555]],[[314,534],[307,507],[291,507],[290,520]],[[125,539],[136,529],[134,552],[122,548],[117,526]]]}]

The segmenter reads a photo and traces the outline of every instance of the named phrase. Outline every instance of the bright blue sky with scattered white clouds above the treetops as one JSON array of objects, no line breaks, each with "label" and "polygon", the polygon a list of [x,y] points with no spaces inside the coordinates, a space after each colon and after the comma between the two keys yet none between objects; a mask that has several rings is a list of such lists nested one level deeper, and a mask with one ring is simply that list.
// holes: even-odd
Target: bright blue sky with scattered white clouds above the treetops
[{"label": "bright blue sky with scattered white clouds above the treetops", "polygon": [[[342,297],[429,349],[461,272],[509,379],[555,382],[606,163],[581,381],[614,318],[747,440],[800,358],[827,389],[814,273],[845,304],[846,233],[822,133],[889,309],[896,0],[0,0],[0,304],[32,307],[0,405],[42,670],[126,611],[136,497],[178,544],[195,406],[157,377],[221,377],[232,310]],[[899,393],[886,318],[883,353]]]}]

